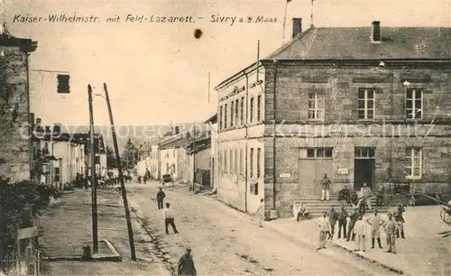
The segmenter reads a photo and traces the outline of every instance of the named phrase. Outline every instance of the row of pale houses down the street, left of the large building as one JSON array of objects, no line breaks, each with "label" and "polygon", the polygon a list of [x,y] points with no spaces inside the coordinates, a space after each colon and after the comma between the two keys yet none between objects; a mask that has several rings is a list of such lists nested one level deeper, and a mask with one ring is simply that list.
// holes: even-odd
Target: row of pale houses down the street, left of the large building
[{"label": "row of pale houses down the street, left of the large building", "polygon": [[[216,137],[217,115],[202,124],[175,126],[158,141],[140,146],[138,174],[149,170],[152,179],[161,179],[163,175],[169,174],[179,183],[215,187]],[[202,174],[202,179],[198,179],[197,174]]]}]

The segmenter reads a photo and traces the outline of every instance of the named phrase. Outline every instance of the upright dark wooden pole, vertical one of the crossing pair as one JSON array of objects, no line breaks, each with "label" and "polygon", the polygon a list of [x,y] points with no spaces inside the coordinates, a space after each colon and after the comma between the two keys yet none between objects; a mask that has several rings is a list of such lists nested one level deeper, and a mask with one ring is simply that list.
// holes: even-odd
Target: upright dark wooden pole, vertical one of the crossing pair
[{"label": "upright dark wooden pole, vertical one of the crossing pair", "polygon": [[94,113],[92,110],[92,87],[87,85],[87,101],[89,102],[89,152],[91,157],[91,207],[92,207],[92,244],[93,252],[98,253],[97,232],[97,181],[96,152],[94,147]]}]

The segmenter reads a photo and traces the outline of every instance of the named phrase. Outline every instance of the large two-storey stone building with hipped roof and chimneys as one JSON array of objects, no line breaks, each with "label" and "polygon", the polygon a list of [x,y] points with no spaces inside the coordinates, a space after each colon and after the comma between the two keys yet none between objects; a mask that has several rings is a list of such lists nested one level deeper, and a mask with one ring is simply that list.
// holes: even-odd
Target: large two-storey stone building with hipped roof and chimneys
[{"label": "large two-storey stone building with hipped roof and chimneys", "polygon": [[216,87],[219,197],[267,217],[293,198],[363,182],[389,192],[449,189],[451,31],[309,28]]}]

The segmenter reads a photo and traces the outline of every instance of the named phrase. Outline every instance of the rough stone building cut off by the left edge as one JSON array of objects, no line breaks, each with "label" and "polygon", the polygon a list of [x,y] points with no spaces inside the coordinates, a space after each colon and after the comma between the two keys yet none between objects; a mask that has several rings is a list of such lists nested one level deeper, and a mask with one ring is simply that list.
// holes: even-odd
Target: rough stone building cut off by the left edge
[{"label": "rough stone building cut off by the left edge", "polygon": [[29,54],[37,43],[0,33],[0,176],[11,181],[30,180]]}]

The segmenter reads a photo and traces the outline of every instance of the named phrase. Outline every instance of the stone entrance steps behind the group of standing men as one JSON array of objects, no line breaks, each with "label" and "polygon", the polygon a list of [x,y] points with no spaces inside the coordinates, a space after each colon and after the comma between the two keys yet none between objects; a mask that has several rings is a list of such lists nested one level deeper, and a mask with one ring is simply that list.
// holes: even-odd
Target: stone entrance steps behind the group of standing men
[{"label": "stone entrance steps behind the group of standing men", "polygon": [[[304,203],[305,207],[307,207],[308,209],[308,213],[310,213],[310,216],[322,216],[324,211],[328,212],[332,207],[334,207],[336,211],[338,211],[342,204],[345,206],[345,209],[349,215],[351,215],[351,213],[354,211],[354,207],[346,204],[345,200],[338,200],[338,196],[331,195],[329,201],[321,201],[320,196],[306,196],[302,198],[294,198],[294,200],[296,202]],[[373,209],[377,208],[379,213],[388,213],[389,207],[375,207],[376,198],[371,198],[371,203]]]}]

